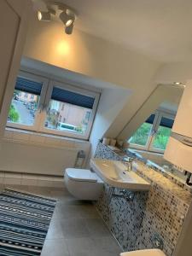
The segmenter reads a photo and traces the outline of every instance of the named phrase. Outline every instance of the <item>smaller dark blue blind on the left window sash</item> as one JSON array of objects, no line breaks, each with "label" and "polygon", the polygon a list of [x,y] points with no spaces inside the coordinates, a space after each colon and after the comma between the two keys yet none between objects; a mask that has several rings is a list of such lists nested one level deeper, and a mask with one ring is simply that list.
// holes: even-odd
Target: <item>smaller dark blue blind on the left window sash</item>
[{"label": "smaller dark blue blind on the left window sash", "polygon": [[32,94],[40,95],[43,83],[18,77],[16,79],[15,90],[22,90]]}]

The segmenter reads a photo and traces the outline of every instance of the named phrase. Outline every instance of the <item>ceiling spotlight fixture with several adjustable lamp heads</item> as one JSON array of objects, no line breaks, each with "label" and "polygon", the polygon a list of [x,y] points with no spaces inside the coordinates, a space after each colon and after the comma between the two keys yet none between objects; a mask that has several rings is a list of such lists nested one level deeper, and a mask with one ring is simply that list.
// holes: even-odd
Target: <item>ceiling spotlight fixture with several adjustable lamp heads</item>
[{"label": "ceiling spotlight fixture with several adjustable lamp heads", "polygon": [[[44,1],[44,0],[43,0]],[[45,3],[45,1],[44,1]],[[55,15],[60,18],[62,23],[65,26],[65,32],[67,35],[71,35],[73,33],[74,21],[76,20],[77,15],[67,5],[55,1],[49,1],[45,3],[48,11],[38,11],[38,20],[41,21],[50,21],[51,15]]]}]

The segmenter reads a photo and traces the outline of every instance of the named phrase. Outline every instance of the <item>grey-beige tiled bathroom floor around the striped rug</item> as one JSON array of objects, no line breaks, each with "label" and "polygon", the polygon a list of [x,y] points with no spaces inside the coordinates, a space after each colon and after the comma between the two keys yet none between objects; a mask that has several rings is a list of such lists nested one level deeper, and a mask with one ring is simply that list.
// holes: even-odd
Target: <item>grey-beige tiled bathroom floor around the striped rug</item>
[{"label": "grey-beige tiled bathroom floor around the striped rug", "polygon": [[57,200],[41,256],[119,256],[118,243],[91,202],[76,200],[63,188],[9,187]]}]

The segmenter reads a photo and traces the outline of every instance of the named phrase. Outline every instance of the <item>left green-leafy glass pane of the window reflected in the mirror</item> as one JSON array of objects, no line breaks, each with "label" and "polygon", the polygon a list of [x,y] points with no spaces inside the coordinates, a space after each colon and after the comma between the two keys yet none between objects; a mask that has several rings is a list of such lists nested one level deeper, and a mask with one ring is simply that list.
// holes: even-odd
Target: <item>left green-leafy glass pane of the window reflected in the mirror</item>
[{"label": "left green-leafy glass pane of the window reflected in the mirror", "polygon": [[129,139],[129,143],[139,146],[146,146],[153,124],[143,123],[135,134]]}]

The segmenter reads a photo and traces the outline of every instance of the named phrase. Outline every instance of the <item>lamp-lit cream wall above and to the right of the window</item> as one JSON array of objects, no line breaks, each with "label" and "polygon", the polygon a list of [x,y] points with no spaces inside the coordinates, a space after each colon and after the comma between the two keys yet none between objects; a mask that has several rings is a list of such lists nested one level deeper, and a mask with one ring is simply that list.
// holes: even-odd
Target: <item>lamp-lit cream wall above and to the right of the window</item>
[{"label": "lamp-lit cream wall above and to the right of the window", "polygon": [[[159,62],[144,55],[84,32],[74,30],[73,35],[67,36],[61,22],[39,22],[36,15],[32,16],[30,22],[24,55],[132,90],[131,98],[120,106],[123,110],[113,112],[108,125],[103,125],[96,139],[104,134],[110,137],[119,134],[154,90],[156,84],[153,79],[160,67]],[[111,102],[110,96],[108,101]]]}]

